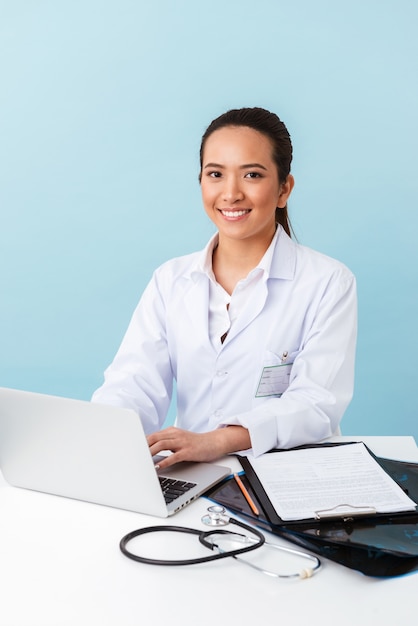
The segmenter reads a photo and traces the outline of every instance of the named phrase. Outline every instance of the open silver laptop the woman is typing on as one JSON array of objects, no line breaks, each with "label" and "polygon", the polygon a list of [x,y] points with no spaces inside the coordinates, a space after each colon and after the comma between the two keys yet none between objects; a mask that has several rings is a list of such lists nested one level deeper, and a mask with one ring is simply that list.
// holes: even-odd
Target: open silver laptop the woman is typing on
[{"label": "open silver laptop the woman is typing on", "polygon": [[[211,463],[154,465],[135,411],[0,388],[0,468],[11,485],[167,517],[230,474]],[[168,497],[163,477],[179,481]]]}]

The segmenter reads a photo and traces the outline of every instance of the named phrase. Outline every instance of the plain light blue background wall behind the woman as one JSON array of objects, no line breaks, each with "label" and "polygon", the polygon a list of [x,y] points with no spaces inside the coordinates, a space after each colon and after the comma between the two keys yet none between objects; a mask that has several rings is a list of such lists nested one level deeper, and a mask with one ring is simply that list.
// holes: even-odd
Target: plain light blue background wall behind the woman
[{"label": "plain light blue background wall behind the woman", "polygon": [[213,232],[202,132],[257,105],[293,138],[299,241],[357,276],[343,431],[418,441],[417,23],[415,0],[0,0],[0,385],[90,398],[152,270]]}]

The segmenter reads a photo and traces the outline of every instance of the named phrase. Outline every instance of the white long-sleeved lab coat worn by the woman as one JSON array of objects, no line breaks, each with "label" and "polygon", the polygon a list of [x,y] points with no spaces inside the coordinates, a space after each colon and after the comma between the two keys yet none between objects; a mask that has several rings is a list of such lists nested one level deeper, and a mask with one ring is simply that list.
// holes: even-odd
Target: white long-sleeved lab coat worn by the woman
[{"label": "white long-sleeved lab coat worn by the woman", "polygon": [[[155,271],[92,400],[135,409],[153,432],[164,422],[175,379],[179,428],[240,424],[255,455],[331,436],[353,393],[353,274],[281,229],[269,276],[218,351],[208,333],[205,254]],[[284,354],[293,363],[288,388],[281,397],[256,397],[263,368],[280,365]]]}]

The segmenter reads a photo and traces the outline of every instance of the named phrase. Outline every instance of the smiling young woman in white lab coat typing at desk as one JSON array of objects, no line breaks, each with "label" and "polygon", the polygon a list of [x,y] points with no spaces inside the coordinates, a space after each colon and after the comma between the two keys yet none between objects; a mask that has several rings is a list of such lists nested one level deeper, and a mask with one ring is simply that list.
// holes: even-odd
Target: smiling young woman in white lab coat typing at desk
[{"label": "smiling young woman in white lab coat typing at desk", "polygon": [[[217,233],[156,270],[93,395],[139,413],[151,453],[173,452],[161,468],[319,441],[353,393],[355,279],[291,239],[286,127],[264,109],[228,111],[200,160]],[[161,430],[174,379],[176,427]]]}]

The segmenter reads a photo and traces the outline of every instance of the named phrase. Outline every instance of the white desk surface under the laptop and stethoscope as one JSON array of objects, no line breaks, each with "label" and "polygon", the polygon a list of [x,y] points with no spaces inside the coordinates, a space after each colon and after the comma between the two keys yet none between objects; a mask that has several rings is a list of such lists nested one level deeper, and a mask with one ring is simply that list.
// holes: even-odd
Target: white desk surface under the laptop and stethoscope
[{"label": "white desk surface under the laptop and stethoscope", "polygon": [[[412,437],[355,439],[381,456],[418,462]],[[203,528],[207,506],[200,498],[163,523]],[[156,567],[121,554],[123,535],[160,523],[12,488],[0,477],[1,626],[136,626],[151,620],[170,626],[415,623],[418,573],[370,578],[323,559],[313,578],[282,581],[233,559]],[[161,537],[159,542],[174,556],[173,543],[164,546]]]}]

